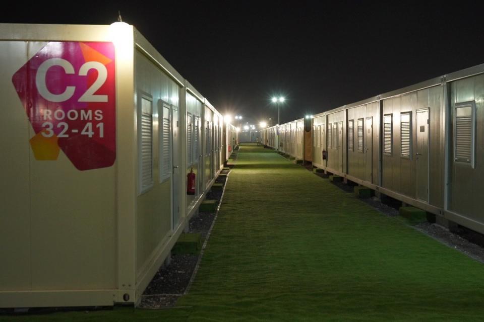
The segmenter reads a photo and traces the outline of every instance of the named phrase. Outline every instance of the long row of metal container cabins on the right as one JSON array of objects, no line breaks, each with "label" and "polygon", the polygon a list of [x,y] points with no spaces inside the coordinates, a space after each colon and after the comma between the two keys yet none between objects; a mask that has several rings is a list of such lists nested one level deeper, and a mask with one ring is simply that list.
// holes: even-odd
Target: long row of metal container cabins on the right
[{"label": "long row of metal container cabins on the right", "polygon": [[262,131],[314,167],[484,233],[484,64]]}]

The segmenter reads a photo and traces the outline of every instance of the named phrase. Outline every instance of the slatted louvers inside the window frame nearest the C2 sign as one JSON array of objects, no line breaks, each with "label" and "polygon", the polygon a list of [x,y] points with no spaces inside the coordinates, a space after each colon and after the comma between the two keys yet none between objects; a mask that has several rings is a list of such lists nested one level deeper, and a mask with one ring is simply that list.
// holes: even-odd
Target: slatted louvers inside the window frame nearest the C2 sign
[{"label": "slatted louvers inside the window frame nearest the C2 sign", "polygon": [[141,113],[141,187],[153,184],[153,117]]}]

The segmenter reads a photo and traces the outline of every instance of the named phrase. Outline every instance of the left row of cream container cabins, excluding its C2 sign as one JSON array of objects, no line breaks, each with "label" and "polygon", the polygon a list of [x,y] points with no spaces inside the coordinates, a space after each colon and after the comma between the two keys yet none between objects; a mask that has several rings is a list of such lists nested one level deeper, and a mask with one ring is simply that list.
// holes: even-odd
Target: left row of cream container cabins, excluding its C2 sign
[{"label": "left row of cream container cabins, excluding its C2 sign", "polygon": [[[138,303],[230,156],[235,127],[133,26],[0,24],[0,37],[0,307]],[[88,171],[62,153],[38,160],[12,84],[42,48],[69,57],[57,51],[77,42],[84,54],[85,42],[115,52],[115,160]],[[56,59],[61,76],[75,65]]]}]

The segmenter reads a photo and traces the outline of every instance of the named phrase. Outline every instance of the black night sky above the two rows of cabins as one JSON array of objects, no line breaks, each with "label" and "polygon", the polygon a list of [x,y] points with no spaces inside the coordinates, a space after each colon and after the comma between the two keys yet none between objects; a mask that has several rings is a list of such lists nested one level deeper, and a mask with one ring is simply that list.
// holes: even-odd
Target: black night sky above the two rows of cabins
[{"label": "black night sky above the two rows of cabins", "polygon": [[[110,24],[120,10],[220,112],[281,123],[484,63],[477,2],[19,2],[4,23]],[[275,124],[273,122],[273,124]]]}]

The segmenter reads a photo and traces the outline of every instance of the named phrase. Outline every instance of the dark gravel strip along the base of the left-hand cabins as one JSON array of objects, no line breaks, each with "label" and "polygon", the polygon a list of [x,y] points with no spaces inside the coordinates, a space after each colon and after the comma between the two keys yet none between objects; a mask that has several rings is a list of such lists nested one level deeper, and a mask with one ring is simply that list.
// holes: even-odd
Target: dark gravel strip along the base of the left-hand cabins
[{"label": "dark gravel strip along the base of the left-hand cabins", "polygon": [[[223,170],[222,174],[229,172]],[[219,176],[216,183],[225,186],[227,178]],[[223,190],[209,191],[207,199],[216,199],[220,203]],[[201,233],[203,241],[215,220],[215,213],[199,212],[189,221],[190,233]],[[201,255],[171,255],[168,266],[162,266],[155,274],[150,284],[143,293],[139,307],[147,309],[163,309],[176,305],[178,298],[183,295],[189,287],[194,272],[197,268]],[[195,273],[196,274],[196,273]]]}]

